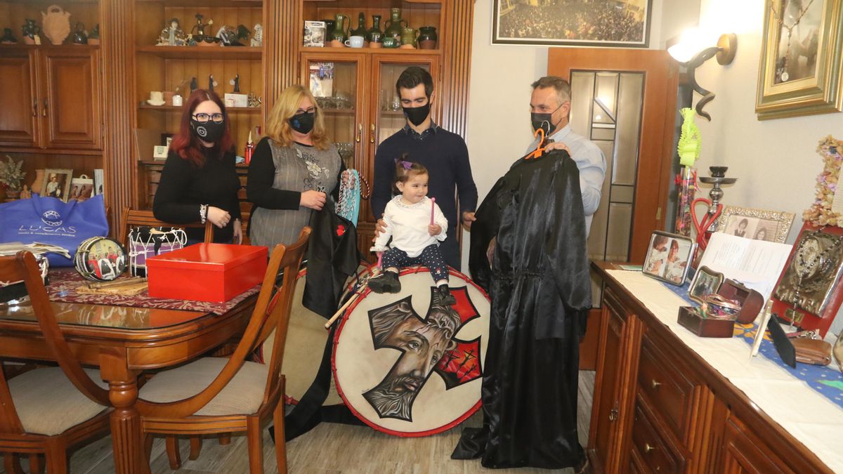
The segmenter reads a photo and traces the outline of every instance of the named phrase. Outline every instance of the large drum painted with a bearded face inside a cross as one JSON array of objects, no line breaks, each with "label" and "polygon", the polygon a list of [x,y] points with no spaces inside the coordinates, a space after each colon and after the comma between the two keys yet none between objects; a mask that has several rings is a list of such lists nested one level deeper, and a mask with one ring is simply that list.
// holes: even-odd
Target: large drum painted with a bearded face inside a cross
[{"label": "large drum painted with a bearded face inside a cross", "polygon": [[481,406],[490,302],[454,270],[454,306],[441,303],[424,267],[405,269],[400,282],[399,294],[367,289],[346,312],[334,342],[334,377],[346,405],[370,427],[437,434]]}]

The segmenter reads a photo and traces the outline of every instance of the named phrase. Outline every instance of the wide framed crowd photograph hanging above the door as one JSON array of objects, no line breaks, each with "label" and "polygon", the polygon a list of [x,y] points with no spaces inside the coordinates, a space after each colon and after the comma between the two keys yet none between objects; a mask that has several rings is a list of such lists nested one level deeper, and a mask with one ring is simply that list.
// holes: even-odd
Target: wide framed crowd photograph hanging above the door
[{"label": "wide framed crowd photograph hanging above the door", "polygon": [[652,0],[492,0],[491,44],[647,48]]}]

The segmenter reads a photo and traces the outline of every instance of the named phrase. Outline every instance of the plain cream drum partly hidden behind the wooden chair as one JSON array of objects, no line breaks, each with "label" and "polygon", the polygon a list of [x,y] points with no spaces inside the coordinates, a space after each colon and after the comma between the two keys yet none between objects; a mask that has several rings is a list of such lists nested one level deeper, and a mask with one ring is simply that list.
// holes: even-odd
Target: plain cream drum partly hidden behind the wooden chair
[{"label": "plain cream drum partly hidden behind the wooden chair", "polygon": [[[365,269],[366,267],[361,266],[358,271],[362,272]],[[356,279],[349,280],[348,288],[350,289]],[[287,328],[287,342],[284,346],[282,362],[282,374],[287,378],[286,402],[292,404],[298,403],[313,384],[319,366],[322,364],[322,355],[329,334],[329,331],[325,330],[325,318],[308,310],[302,304],[304,283],[307,283],[307,269],[298,272],[298,283],[296,292],[293,294],[293,308],[290,310],[290,323]],[[261,357],[266,364],[269,364],[272,357],[274,342],[275,332],[273,331],[260,349]],[[342,399],[336,392],[336,385],[330,384],[330,393],[324,405],[341,404]]]}]

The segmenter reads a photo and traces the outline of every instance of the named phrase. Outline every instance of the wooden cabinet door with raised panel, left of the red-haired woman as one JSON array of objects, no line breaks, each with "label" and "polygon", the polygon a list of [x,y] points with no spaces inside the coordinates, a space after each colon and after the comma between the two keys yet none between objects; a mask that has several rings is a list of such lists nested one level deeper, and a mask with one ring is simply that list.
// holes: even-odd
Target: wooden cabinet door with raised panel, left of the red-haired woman
[{"label": "wooden cabinet door with raised panel, left of the red-haired woman", "polygon": [[62,46],[40,55],[43,147],[102,149],[99,49]]}]

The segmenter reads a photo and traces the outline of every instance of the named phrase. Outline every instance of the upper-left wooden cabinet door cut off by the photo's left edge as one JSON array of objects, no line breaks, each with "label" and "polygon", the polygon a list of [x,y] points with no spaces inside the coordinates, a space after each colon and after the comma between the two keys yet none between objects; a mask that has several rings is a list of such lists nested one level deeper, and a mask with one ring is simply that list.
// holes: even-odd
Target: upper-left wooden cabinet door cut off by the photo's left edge
[{"label": "upper-left wooden cabinet door cut off by the photo's left edge", "polygon": [[39,100],[35,49],[8,47],[0,57],[0,146],[38,146]]}]

